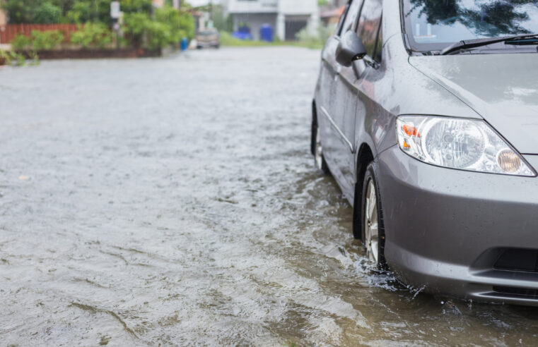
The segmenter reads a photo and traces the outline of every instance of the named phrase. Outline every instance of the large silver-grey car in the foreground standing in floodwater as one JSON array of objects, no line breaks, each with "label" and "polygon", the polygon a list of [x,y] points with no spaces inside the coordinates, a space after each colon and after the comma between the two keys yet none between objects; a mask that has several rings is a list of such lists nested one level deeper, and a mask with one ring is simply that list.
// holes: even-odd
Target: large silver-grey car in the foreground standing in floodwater
[{"label": "large silver-grey car in the foreground standing in floodwater", "polygon": [[404,284],[538,305],[538,4],[352,0],[322,51],[311,150]]}]

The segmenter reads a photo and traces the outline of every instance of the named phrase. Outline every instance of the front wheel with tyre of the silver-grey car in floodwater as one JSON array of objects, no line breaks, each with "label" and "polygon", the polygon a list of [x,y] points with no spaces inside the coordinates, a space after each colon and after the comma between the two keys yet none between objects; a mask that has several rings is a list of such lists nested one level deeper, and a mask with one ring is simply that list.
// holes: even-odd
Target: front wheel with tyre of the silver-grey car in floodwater
[{"label": "front wheel with tyre of the silver-grey car in floodwater", "polygon": [[366,257],[378,269],[387,269],[385,225],[376,172],[377,166],[375,162],[371,162],[366,168],[361,195],[361,237],[366,248]]}]

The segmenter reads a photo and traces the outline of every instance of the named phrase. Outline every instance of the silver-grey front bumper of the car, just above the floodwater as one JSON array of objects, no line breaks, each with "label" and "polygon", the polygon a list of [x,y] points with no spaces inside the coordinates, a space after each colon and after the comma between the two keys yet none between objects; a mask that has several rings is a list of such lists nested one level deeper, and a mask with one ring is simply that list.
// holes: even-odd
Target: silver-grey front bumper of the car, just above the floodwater
[{"label": "silver-grey front bumper of the car, just above the floodwater", "polygon": [[538,254],[538,178],[441,168],[397,146],[376,160],[385,259],[399,279],[429,293],[538,306],[538,259],[525,271],[498,266],[507,251]]}]

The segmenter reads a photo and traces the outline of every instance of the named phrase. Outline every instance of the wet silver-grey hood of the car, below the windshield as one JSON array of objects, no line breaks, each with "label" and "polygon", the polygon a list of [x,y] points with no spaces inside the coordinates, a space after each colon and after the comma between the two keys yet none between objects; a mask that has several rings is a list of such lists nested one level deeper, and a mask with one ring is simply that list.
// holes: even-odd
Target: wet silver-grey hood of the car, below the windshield
[{"label": "wet silver-grey hood of the car, below the windshield", "polygon": [[474,109],[519,152],[538,154],[537,54],[411,56],[409,63]]}]

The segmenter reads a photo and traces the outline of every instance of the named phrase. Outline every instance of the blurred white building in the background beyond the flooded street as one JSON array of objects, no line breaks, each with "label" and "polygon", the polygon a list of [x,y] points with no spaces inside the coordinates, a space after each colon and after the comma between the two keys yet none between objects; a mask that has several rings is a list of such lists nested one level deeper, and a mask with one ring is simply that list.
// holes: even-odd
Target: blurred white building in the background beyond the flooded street
[{"label": "blurred white building in the background beyond the flooded street", "polygon": [[255,39],[264,24],[271,25],[279,39],[293,40],[303,28],[314,33],[320,23],[317,0],[223,0],[223,6],[234,30],[245,23]]}]

